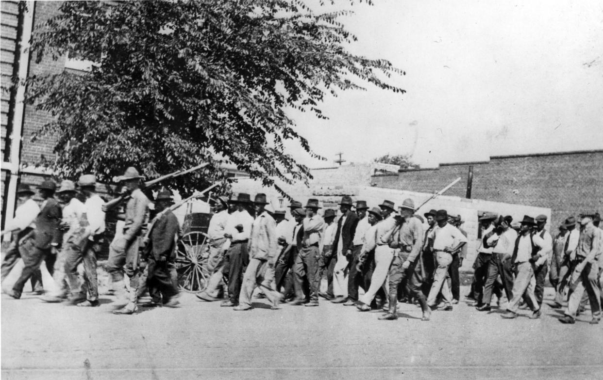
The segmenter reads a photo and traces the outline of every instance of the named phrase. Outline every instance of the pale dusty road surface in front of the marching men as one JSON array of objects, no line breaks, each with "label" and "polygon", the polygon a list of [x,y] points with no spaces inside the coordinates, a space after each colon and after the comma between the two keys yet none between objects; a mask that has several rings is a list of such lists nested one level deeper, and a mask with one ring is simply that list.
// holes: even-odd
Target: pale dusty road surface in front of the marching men
[{"label": "pale dusty road surface in front of the marching men", "polygon": [[[464,289],[463,291],[466,291]],[[551,294],[548,294],[551,297]],[[2,294],[2,379],[603,379],[603,325],[503,320],[465,302],[421,322],[321,301],[235,312],[183,294],[134,316]]]}]

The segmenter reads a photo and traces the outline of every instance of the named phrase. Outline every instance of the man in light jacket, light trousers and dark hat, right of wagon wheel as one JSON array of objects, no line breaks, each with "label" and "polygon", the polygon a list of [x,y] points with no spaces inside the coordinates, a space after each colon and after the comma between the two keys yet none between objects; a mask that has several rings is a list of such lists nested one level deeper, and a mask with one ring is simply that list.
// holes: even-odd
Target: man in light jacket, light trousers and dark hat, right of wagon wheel
[{"label": "man in light jacket, light trousers and dark hat, right of wagon wheel", "polygon": [[265,210],[268,202],[266,195],[259,193],[254,199],[256,219],[251,225],[251,235],[247,243],[250,260],[245,269],[239,305],[233,310],[251,310],[251,295],[256,287],[262,287],[265,296],[272,302],[272,309],[278,309],[281,294],[270,285],[274,279],[274,263],[279,253],[277,243],[276,222]]}]

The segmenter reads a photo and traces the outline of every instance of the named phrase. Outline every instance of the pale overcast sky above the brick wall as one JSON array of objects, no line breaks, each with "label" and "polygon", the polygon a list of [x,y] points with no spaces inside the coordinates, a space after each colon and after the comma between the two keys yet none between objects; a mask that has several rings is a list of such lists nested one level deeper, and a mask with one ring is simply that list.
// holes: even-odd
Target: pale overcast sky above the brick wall
[{"label": "pale overcast sky above the brick wall", "polygon": [[[330,120],[295,113],[328,161],[411,154],[422,166],[603,148],[603,1],[374,0],[343,18],[355,54],[406,71],[405,94],[340,93]],[[526,4],[523,4],[526,3]],[[294,146],[292,146],[294,147]]]}]

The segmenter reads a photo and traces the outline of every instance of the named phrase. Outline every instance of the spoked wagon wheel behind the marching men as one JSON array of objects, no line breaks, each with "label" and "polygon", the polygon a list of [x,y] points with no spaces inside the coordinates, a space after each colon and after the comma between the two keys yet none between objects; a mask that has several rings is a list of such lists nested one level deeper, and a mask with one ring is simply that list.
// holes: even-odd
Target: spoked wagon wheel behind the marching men
[{"label": "spoked wagon wheel behind the marching men", "polygon": [[208,238],[203,232],[193,231],[178,241],[175,267],[180,289],[197,293],[206,288],[209,280],[206,254]]}]

